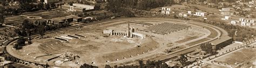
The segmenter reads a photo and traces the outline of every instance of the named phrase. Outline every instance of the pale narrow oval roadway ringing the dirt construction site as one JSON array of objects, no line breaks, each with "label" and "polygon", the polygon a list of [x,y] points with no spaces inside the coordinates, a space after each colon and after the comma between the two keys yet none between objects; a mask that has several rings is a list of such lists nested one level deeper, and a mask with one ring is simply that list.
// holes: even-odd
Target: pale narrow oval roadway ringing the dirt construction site
[{"label": "pale narrow oval roadway ringing the dirt construction site", "polygon": [[[67,28],[62,28],[62,29],[58,29],[58,30],[53,30],[53,31],[47,31],[45,33],[53,33],[53,32],[58,32],[58,31],[64,31],[64,30],[69,30],[69,29],[75,29],[75,28],[79,28],[81,26],[87,26],[87,25],[93,25],[93,24],[98,24],[98,23],[112,23],[111,21],[131,21],[132,19],[151,19],[152,18],[117,18],[117,19],[109,19],[109,20],[104,20],[104,21],[97,21],[97,22],[92,22],[92,23],[84,23],[84,24],[81,24],[81,25],[77,25],[77,26],[69,26]],[[158,20],[165,20],[165,21],[179,21],[179,22],[185,22],[183,20],[180,20],[180,19],[169,19],[169,18],[154,18],[154,19],[158,19]],[[190,23],[198,23],[198,22],[190,22]],[[218,36],[215,37],[215,38],[212,38],[211,40],[214,40],[214,39],[217,39],[218,37],[220,37],[221,35],[221,32],[223,32],[221,29],[218,29],[218,27],[216,26],[212,26],[212,25],[208,25],[208,24],[205,24],[205,23],[200,23],[200,24],[203,24],[203,25],[206,25],[210,28],[214,28],[214,30],[216,30],[218,32]],[[215,29],[217,28],[217,29]],[[224,31],[225,32],[225,31]],[[39,36],[39,35],[32,35],[31,37],[36,37],[36,36]],[[197,40],[200,40],[200,39],[197,39]],[[207,42],[210,42],[211,40],[207,40]],[[193,40],[193,41],[196,41],[196,40]],[[193,42],[193,41],[190,41],[190,42]],[[12,41],[11,43],[14,43],[15,41]],[[9,42],[10,43],[10,42]],[[187,42],[189,43],[189,42]],[[205,42],[202,42],[202,43],[205,43]],[[201,43],[199,43],[201,44]],[[193,46],[190,46],[190,47],[186,47],[185,49],[182,49],[182,50],[179,50],[179,51],[175,51],[175,52],[172,52],[172,53],[168,53],[164,56],[161,56],[160,58],[156,59],[156,60],[165,60],[165,59],[169,59],[171,57],[174,57],[174,56],[178,56],[180,54],[183,54],[183,53],[187,53],[187,52],[190,52],[190,51],[193,51],[193,50],[196,50],[199,48],[199,45],[196,44],[196,45],[193,45]],[[119,61],[116,61],[116,62],[111,62],[110,64],[118,64],[118,63],[125,63],[125,62],[130,62],[132,60],[137,60],[137,59],[141,59],[141,58],[144,58],[144,57],[149,57],[149,56],[152,56],[152,55],[156,55],[157,53],[162,53],[162,52],[159,52],[161,49],[163,48],[158,48],[154,51],[151,51],[151,52],[148,52],[148,53],[145,53],[143,55],[140,55],[140,56],[136,56],[136,57],[132,57],[132,58],[127,58],[127,59],[123,59],[123,60],[119,60]],[[165,48],[166,49],[166,48]],[[21,60],[28,60],[24,57],[20,57],[19,55],[17,55],[18,53],[15,52],[15,50],[12,49],[12,45],[11,44],[8,44],[8,46],[6,46],[6,51],[11,55],[11,56],[14,56],[18,59],[21,59]],[[153,57],[152,57],[153,58]],[[38,63],[38,62],[35,62],[35,61],[29,61],[31,63],[37,63],[37,64],[42,64],[42,63]],[[43,64],[44,65],[44,64]],[[100,65],[105,65],[105,64],[100,64]]]}]

